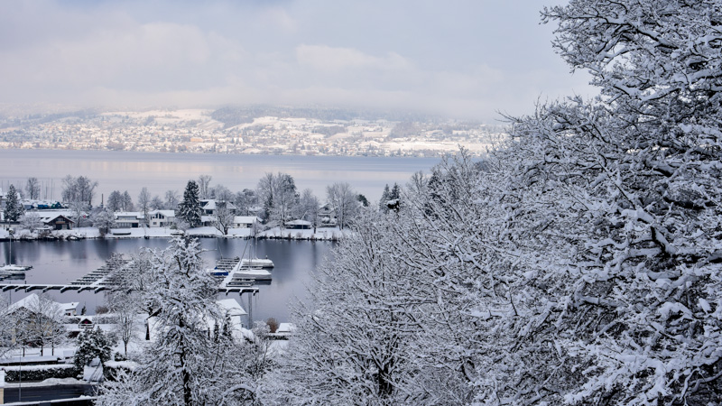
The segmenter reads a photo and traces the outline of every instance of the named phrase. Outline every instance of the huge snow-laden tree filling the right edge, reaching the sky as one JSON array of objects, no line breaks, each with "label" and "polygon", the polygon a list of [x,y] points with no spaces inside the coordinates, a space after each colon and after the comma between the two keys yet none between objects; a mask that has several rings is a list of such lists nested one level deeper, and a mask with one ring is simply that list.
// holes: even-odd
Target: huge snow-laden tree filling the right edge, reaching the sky
[{"label": "huge snow-laden tree filling the right edge, reaching the sky", "polygon": [[513,169],[500,183],[517,208],[509,220],[543,229],[544,266],[527,260],[538,314],[518,333],[537,348],[521,370],[534,375],[496,393],[720,402],[722,365],[708,348],[722,288],[722,3],[572,0],[543,14],[559,23],[561,56],[601,96],[514,119],[514,143],[499,152]]}]

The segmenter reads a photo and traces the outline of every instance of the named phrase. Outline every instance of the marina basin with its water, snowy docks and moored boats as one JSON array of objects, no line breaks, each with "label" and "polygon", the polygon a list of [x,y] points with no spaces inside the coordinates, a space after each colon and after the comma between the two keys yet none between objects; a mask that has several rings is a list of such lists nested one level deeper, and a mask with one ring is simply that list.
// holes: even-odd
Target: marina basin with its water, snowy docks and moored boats
[{"label": "marina basin with its water, snowy docks and moored boats", "polygon": [[[93,314],[96,307],[105,302],[107,284],[102,281],[105,272],[103,267],[111,254],[129,257],[141,248],[162,250],[168,242],[165,238],[14,241],[12,256],[10,242],[0,242],[0,263],[32,266],[32,271],[26,272],[24,276],[0,281],[0,292],[4,294],[5,300],[14,302],[32,292],[47,291],[58,301],[86,303],[88,314]],[[234,276],[229,277],[240,262],[239,254],[245,252],[249,241],[201,238],[199,243],[206,268],[219,272],[214,275],[218,278],[219,298],[250,292],[252,294],[244,295],[243,304],[245,308],[253,308],[255,319],[273,317],[282,322],[289,320],[289,303],[294,298],[304,300],[311,272],[335,244],[259,239],[254,244],[257,245],[255,252],[260,258],[267,256],[272,259],[273,269],[264,269],[268,274],[262,274],[264,272],[258,269],[252,271],[238,267]],[[230,253],[237,253],[237,256]],[[236,299],[239,299],[238,296]],[[252,303],[249,304],[249,301]]]}]

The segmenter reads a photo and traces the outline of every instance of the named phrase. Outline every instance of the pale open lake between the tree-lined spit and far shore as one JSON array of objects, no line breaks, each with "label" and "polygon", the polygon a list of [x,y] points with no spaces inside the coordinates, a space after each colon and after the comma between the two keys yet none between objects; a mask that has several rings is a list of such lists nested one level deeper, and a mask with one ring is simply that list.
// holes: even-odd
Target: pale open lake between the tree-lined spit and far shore
[{"label": "pale open lake between the tree-lined spit and far shore", "polygon": [[0,186],[24,185],[28,177],[42,182],[42,195],[60,198],[65,175],[88,176],[98,181],[97,198],[115,190],[128,190],[135,199],[143,187],[153,195],[168,189],[180,192],[201,174],[213,177],[233,191],[255,189],[265,172],[282,171],[296,180],[299,190],[310,188],[323,199],[326,186],[347,181],[371,201],[381,198],[386,183],[405,184],[414,172],[429,172],[438,158],[335,157],[291,155],[239,155],[161,152],[110,152],[64,150],[0,150]]}]

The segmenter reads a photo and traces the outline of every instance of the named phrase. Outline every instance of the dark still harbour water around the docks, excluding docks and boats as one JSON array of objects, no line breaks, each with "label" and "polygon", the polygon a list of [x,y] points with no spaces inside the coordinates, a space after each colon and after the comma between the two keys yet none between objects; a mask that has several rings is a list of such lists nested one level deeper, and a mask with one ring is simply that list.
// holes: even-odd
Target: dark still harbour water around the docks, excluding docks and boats
[{"label": "dark still harbour water around the docks, excluding docks and boats", "polygon": [[[240,239],[200,239],[201,247],[206,250],[203,259],[208,267],[215,265],[221,256],[240,256],[246,247],[246,240]],[[28,283],[67,283],[93,271],[106,262],[112,253],[134,253],[141,247],[163,249],[168,240],[164,238],[144,239],[113,239],[113,240],[81,240],[81,241],[42,241],[14,242],[12,255],[10,243],[0,243],[0,263],[21,263],[32,265],[33,269],[26,273]],[[258,241],[259,258],[273,260],[273,281],[270,285],[260,285],[260,292],[252,300],[253,318],[265,320],[276,318],[288,320],[288,303],[293,297],[305,298],[306,283],[310,281],[310,271],[314,270],[330,254],[333,243],[309,241]],[[23,281],[13,281],[23,283]],[[37,291],[35,291],[37,292]],[[102,294],[88,291],[77,293],[66,291],[50,291],[55,300],[61,302],[79,301],[85,303],[88,314],[92,314],[98,305],[104,303]],[[6,299],[20,300],[27,293],[3,293]],[[243,298],[238,293],[227,297],[239,300],[241,305],[249,309],[249,296]],[[226,295],[221,295],[226,297]],[[82,305],[81,305],[82,307]]]}]

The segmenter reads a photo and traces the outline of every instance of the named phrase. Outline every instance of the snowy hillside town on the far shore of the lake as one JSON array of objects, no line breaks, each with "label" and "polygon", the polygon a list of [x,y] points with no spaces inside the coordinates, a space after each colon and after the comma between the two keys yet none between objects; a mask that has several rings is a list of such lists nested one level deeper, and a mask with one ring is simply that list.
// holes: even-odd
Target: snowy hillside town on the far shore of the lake
[{"label": "snowy hillside town on the far shore of the lake", "polygon": [[[371,116],[372,118],[356,118]],[[281,107],[0,114],[0,148],[276,155],[479,155],[504,125]]]}]

